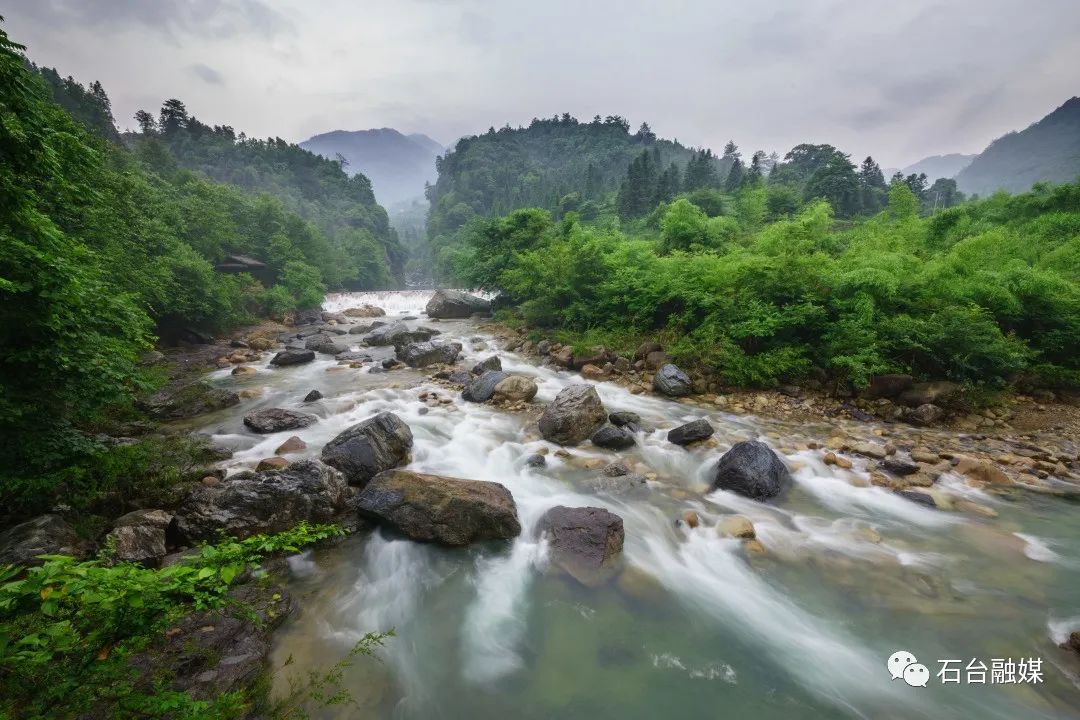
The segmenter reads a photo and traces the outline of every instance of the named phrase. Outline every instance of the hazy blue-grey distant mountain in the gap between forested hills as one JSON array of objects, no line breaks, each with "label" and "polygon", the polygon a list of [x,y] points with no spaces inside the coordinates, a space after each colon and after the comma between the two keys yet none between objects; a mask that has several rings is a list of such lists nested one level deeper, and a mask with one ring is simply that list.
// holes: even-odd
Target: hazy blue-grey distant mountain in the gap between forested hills
[{"label": "hazy blue-grey distant mountain in the gap between forested hills", "polygon": [[424,184],[435,180],[435,158],[445,150],[422,133],[403,135],[392,127],[336,130],[300,147],[330,160],[345,158],[346,172],[369,177],[383,205],[422,198]]}]

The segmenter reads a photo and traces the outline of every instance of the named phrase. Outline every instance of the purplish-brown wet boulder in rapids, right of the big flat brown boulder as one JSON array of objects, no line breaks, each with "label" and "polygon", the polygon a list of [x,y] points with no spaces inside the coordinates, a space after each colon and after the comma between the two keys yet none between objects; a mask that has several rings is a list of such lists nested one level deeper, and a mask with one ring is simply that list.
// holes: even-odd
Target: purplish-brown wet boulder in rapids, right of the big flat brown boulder
[{"label": "purplish-brown wet boulder in rapids, right of the big flat brown boulder", "polygon": [[537,532],[553,566],[595,587],[618,572],[625,532],[622,518],[600,507],[556,505],[541,516]]}]

